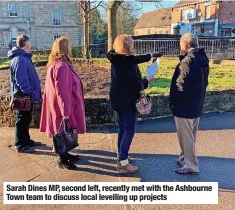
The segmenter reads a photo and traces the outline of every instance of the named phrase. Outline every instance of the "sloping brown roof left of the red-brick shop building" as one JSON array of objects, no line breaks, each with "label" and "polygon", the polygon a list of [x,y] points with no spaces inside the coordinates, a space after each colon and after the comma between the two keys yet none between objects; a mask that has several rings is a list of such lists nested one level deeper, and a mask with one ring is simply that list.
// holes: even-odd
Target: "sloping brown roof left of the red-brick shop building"
[{"label": "sloping brown roof left of the red-brick shop building", "polygon": [[138,20],[135,29],[151,28],[171,25],[171,8],[162,8],[144,13]]}]

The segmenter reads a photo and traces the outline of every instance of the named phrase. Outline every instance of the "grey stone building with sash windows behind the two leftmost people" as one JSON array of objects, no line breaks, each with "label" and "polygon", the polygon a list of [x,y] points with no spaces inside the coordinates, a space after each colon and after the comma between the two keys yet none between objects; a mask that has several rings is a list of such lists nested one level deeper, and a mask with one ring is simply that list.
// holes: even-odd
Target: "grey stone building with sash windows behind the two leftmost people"
[{"label": "grey stone building with sash windows behind the two leftmost people", "polygon": [[53,41],[66,35],[75,45],[82,42],[75,0],[20,0],[0,2],[0,48],[4,49],[20,33],[30,35],[34,49],[49,49]]}]

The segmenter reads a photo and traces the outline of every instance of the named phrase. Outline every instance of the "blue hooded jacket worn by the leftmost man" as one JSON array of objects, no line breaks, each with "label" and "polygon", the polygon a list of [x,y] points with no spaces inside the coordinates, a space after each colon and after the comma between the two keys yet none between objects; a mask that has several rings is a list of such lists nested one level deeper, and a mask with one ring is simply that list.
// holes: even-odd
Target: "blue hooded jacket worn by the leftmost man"
[{"label": "blue hooded jacket worn by the leftmost man", "polygon": [[14,47],[8,57],[11,59],[11,91],[19,96],[31,96],[32,103],[41,101],[40,79],[32,63],[32,54]]}]

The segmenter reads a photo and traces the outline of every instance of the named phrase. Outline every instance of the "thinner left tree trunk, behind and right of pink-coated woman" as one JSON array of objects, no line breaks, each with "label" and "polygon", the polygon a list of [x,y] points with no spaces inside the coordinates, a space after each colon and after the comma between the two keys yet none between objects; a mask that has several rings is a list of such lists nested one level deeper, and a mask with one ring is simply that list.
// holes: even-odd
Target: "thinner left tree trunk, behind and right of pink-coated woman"
[{"label": "thinner left tree trunk, behind and right of pink-coated woman", "polygon": [[89,50],[89,7],[88,2],[84,3],[84,53],[87,59],[90,59],[90,50]]}]

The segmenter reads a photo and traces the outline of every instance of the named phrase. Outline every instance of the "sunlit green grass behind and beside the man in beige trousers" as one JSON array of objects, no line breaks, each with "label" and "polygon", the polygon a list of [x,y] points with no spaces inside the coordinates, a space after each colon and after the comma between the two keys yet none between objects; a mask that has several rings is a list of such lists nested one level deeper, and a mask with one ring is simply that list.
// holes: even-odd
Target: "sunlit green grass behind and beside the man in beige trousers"
[{"label": "sunlit green grass behind and beside the man in beige trousers", "polygon": [[[171,78],[177,63],[177,59],[160,59],[159,72],[146,92],[152,95],[168,95],[170,91]],[[146,75],[147,65],[148,64],[146,63],[139,65],[143,76]],[[207,90],[227,89],[235,89],[235,66],[219,64],[210,65],[209,86]]]}]

